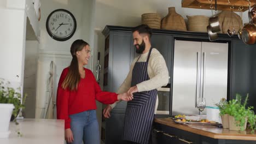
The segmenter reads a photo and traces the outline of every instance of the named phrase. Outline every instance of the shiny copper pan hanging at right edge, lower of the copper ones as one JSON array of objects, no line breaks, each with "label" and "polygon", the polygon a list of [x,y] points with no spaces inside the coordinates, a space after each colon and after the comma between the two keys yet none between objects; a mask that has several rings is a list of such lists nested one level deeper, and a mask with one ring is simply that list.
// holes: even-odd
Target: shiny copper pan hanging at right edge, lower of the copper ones
[{"label": "shiny copper pan hanging at right edge, lower of the copper ones", "polygon": [[256,26],[253,23],[247,23],[242,29],[242,40],[244,43],[256,44]]}]

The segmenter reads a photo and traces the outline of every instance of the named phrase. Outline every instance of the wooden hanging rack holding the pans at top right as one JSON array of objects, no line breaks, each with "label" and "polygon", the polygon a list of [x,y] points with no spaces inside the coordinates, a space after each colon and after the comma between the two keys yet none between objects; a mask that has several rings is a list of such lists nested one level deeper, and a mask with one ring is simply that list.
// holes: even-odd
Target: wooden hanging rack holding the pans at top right
[{"label": "wooden hanging rack holding the pans at top right", "polygon": [[[232,11],[246,11],[249,5],[251,7],[256,5],[256,0],[217,0],[217,10],[230,11],[230,5],[234,6]],[[211,9],[212,6],[214,0],[182,0],[182,8]]]}]

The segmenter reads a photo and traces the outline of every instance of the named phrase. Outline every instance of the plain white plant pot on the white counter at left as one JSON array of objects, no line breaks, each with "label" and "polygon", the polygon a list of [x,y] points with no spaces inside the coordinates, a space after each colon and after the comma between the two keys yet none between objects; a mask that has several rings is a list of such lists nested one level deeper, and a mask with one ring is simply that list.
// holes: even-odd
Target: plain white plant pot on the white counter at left
[{"label": "plain white plant pot on the white counter at left", "polygon": [[0,138],[9,137],[9,124],[11,113],[13,113],[13,104],[0,104]]}]

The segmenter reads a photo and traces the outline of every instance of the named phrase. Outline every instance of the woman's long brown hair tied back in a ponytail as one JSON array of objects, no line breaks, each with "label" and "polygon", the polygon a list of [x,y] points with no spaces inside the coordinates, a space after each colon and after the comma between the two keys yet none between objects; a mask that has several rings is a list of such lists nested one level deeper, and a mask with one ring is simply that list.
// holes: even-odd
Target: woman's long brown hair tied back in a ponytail
[{"label": "woman's long brown hair tied back in a ponytail", "polygon": [[69,70],[65,80],[62,82],[61,87],[63,89],[68,89],[69,91],[77,90],[78,83],[80,81],[80,74],[78,68],[78,60],[75,53],[77,51],[83,50],[84,46],[89,45],[82,39],[75,40],[71,45],[70,52],[72,55],[72,61],[69,65]]}]

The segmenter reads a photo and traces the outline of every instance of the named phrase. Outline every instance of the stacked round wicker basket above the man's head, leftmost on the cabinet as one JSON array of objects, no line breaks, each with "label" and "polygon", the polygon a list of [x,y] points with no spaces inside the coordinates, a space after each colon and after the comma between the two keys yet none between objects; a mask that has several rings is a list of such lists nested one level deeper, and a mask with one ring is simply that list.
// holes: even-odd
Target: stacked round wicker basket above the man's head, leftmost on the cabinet
[{"label": "stacked round wicker basket above the man's head, leftmost on the cabinet", "polygon": [[141,15],[141,23],[150,28],[159,29],[161,27],[161,16],[156,13],[147,13]]}]

